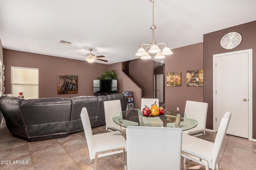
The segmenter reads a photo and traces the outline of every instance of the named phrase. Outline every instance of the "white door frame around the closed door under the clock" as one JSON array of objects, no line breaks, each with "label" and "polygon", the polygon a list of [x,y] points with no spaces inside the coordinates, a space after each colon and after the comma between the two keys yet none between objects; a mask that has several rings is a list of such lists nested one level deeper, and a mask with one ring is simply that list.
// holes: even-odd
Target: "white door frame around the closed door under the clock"
[{"label": "white door frame around the closed door under the clock", "polygon": [[[252,49],[246,49],[241,51],[233,51],[229,53],[221,53],[213,55],[213,131],[216,129],[216,57],[226,56],[226,55],[235,55],[240,53],[248,53],[248,139],[252,139]],[[232,117],[232,116],[231,116]],[[232,119],[232,118],[231,118]]]}]

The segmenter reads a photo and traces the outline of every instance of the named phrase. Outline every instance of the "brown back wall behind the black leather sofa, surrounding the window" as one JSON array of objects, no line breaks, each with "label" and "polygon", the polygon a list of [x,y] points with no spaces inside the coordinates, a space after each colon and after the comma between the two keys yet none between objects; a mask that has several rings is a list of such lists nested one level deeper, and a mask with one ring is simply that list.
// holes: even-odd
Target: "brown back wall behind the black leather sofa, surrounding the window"
[{"label": "brown back wall behind the black leather sofa, surrounding the window", "polygon": [[[108,65],[78,61],[62,57],[53,57],[21,51],[4,49],[5,94],[11,93],[11,66],[38,68],[39,98],[91,96],[93,79],[97,79]],[[77,75],[78,94],[57,94],[57,75]],[[24,94],[26,95],[26,94]]]}]

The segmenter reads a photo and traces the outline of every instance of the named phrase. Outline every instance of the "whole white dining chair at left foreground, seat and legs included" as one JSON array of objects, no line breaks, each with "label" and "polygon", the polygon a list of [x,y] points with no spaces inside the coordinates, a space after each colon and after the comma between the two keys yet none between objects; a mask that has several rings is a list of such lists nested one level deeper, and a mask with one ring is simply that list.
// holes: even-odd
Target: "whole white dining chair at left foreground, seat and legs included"
[{"label": "whole white dining chair at left foreground, seat and legs included", "polygon": [[94,159],[93,169],[96,169],[97,158],[122,152],[124,155],[124,169],[126,169],[126,140],[122,133],[113,131],[92,135],[92,128],[86,107],[82,108],[80,116],[89,150],[90,164],[92,164],[92,160]]}]

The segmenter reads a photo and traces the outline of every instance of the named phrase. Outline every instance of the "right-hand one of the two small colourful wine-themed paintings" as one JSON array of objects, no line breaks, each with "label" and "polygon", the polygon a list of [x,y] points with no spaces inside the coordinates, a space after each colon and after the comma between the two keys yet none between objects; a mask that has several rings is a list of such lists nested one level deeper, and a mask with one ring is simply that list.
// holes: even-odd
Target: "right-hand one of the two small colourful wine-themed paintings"
[{"label": "right-hand one of the two small colourful wine-themed paintings", "polygon": [[204,86],[204,70],[187,71],[187,86]]}]

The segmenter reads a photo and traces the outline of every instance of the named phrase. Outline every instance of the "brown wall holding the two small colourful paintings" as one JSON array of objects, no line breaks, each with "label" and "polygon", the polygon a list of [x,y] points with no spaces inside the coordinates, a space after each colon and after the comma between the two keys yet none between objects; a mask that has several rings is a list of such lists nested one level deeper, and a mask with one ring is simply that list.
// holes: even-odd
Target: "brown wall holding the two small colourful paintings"
[{"label": "brown wall holding the two small colourful paintings", "polygon": [[172,49],[173,54],[165,58],[165,72],[181,72],[181,86],[166,86],[165,78],[165,108],[169,110],[179,110],[184,112],[186,100],[203,102],[204,87],[186,86],[186,71],[203,68],[203,43],[188,45],[177,49]]}]

